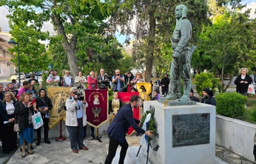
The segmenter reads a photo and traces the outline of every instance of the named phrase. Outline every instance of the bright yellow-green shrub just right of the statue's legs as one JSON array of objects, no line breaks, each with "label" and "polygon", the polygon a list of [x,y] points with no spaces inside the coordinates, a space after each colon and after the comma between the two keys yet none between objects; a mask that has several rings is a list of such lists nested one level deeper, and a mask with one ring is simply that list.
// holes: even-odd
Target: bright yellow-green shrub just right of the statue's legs
[{"label": "bright yellow-green shrub just right of the statue's legs", "polygon": [[213,84],[211,82],[211,79],[208,76],[208,73],[204,73],[204,72],[201,72],[200,74],[196,74],[194,84],[196,85],[196,91],[200,96],[202,96],[202,90],[204,88],[213,87]]}]

